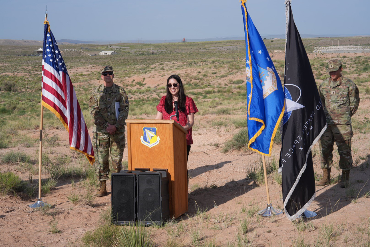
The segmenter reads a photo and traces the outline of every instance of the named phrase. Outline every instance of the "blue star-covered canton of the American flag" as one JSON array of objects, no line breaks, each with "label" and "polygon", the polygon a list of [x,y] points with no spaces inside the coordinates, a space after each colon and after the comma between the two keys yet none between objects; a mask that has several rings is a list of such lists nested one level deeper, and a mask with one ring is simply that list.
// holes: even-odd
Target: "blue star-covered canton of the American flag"
[{"label": "blue star-covered canton of the American flag", "polygon": [[[45,24],[45,29],[48,28],[48,25]],[[65,67],[63,57],[60,54],[58,48],[58,43],[54,38],[51,31],[46,30],[46,35],[44,35],[44,48],[43,48],[43,58],[44,63],[50,65],[58,73],[63,71],[65,74],[68,74],[67,68]]]}]

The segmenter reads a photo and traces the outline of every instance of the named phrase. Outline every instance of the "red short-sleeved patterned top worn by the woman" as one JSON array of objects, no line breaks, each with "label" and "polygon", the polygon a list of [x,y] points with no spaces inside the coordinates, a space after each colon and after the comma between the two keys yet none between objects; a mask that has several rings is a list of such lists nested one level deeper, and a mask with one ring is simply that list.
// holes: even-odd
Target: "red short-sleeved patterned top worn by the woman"
[{"label": "red short-sleeved patterned top worn by the woman", "polygon": [[[159,101],[159,104],[157,105],[157,110],[163,114],[163,119],[169,120],[169,117],[171,115],[175,115],[175,108],[171,112],[171,114],[168,114],[166,110],[164,109],[164,103],[165,103],[166,96],[163,96],[161,98],[161,101]],[[176,117],[173,116],[172,120],[175,120],[178,122],[181,126],[185,126],[188,120],[186,119],[186,116],[190,113],[196,113],[198,112],[198,108],[196,108],[195,102],[192,98],[186,96],[186,102],[185,102],[185,111],[182,112],[179,109],[179,121],[177,121]],[[188,129],[188,134],[186,135],[186,145],[193,144],[193,138],[191,137],[191,129]]]}]

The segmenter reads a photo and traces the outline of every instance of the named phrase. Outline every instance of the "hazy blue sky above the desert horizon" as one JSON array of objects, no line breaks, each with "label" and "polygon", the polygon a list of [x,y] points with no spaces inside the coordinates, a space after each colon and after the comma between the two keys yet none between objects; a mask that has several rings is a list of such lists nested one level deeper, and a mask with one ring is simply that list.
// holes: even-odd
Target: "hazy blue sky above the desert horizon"
[{"label": "hazy blue sky above the desert horizon", "polygon": [[[244,36],[238,0],[10,0],[1,3],[0,39],[42,40],[46,5],[57,39]],[[301,34],[370,35],[368,0],[293,0],[291,6]],[[260,34],[285,33],[284,0],[248,0],[247,9]]]}]

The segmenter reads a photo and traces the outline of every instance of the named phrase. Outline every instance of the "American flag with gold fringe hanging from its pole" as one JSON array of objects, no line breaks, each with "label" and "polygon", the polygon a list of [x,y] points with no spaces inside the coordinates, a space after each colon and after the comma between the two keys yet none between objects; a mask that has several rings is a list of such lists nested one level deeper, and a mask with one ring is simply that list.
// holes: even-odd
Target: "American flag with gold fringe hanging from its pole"
[{"label": "American flag with gold fringe hanging from its pole", "polygon": [[95,162],[94,150],[67,68],[48,21],[44,27],[41,104],[57,116],[69,133],[70,149]]}]

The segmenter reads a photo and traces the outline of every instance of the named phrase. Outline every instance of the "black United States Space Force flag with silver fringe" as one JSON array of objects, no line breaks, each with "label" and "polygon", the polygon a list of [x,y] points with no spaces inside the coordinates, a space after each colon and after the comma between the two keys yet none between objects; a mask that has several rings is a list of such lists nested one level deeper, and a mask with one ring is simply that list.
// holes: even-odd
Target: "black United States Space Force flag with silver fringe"
[{"label": "black United States Space Force flag with silver fringe", "polygon": [[285,1],[286,45],[282,148],[283,201],[286,216],[295,220],[315,198],[311,148],[326,129],[326,118],[310,61],[293,20],[290,0]]}]

